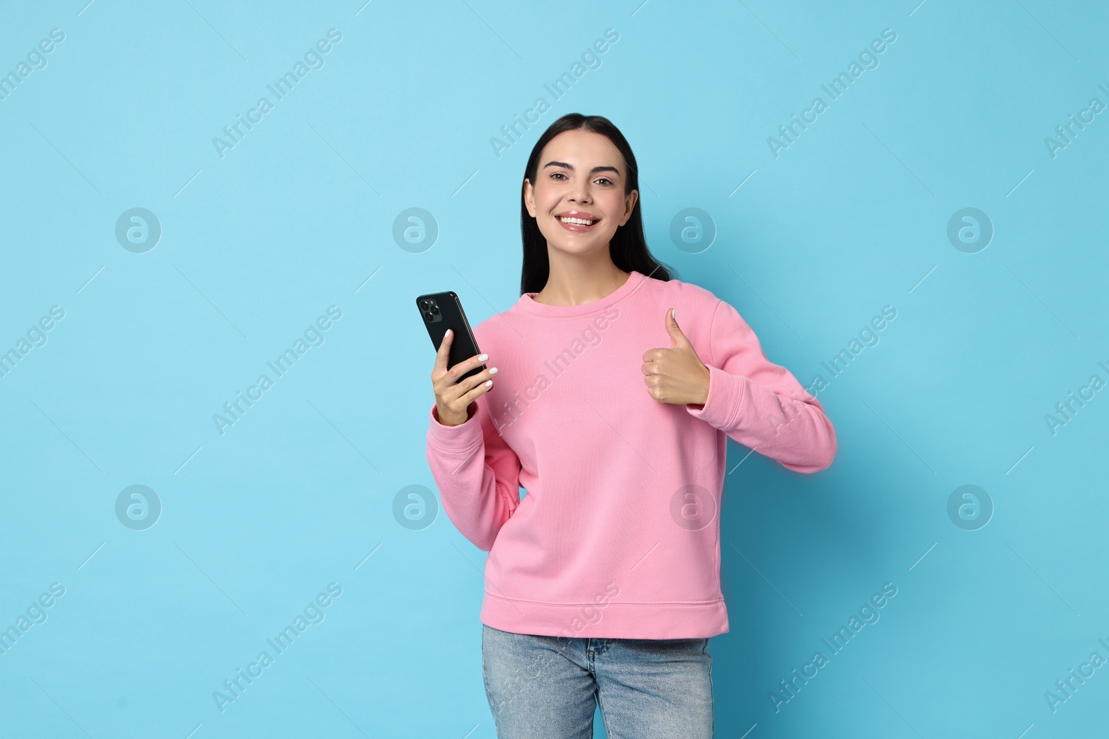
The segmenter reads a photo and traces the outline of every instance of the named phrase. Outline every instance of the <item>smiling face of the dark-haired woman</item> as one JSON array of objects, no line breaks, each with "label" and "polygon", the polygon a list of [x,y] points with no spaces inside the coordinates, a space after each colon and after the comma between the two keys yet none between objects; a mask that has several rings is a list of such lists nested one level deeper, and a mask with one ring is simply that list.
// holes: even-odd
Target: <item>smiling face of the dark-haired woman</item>
[{"label": "smiling face of the dark-haired woman", "polygon": [[637,191],[624,196],[627,178],[623,157],[608,136],[583,129],[563,131],[543,147],[536,182],[523,181],[523,202],[548,247],[607,254],[639,197]]}]

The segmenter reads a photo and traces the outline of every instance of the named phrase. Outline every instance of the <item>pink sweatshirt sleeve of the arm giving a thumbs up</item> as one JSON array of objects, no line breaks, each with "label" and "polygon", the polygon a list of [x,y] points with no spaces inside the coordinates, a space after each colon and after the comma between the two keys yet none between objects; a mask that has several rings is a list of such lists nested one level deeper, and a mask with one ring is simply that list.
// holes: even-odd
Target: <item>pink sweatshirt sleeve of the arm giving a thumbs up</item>
[{"label": "pink sweatshirt sleeve of the arm giving a thumbs up", "polygon": [[686,404],[735,441],[795,472],[832,464],[835,429],[824,407],[784,367],[766,359],[755,332],[731,305],[716,304],[709,331],[709,397]]}]

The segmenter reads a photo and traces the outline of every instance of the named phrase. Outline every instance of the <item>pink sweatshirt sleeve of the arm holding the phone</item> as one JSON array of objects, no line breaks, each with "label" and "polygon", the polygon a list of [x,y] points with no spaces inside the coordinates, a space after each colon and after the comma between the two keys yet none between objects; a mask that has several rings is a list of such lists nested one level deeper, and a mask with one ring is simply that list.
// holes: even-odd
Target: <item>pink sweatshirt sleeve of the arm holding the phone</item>
[{"label": "pink sweatshirt sleeve of the arm holding the phone", "polygon": [[444,425],[431,403],[427,461],[447,516],[488,552],[520,503],[520,460],[497,432],[484,396],[467,413],[464,423]]}]

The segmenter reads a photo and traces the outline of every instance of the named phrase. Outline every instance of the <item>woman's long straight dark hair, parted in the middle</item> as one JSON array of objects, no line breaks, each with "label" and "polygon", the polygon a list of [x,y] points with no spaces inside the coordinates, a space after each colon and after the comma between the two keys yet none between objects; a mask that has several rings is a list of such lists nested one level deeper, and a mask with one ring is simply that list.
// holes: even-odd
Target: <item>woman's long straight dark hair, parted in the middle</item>
[{"label": "woman's long straight dark hair, parted in the middle", "polygon": [[[620,130],[612,125],[603,115],[582,115],[581,113],[567,113],[558,121],[550,124],[543,135],[539,136],[531,156],[528,157],[528,166],[523,170],[525,178],[535,186],[536,173],[539,168],[539,155],[547,143],[563,131],[576,131],[584,129],[592,133],[607,136],[623,156],[628,165],[628,176],[624,178],[624,196],[633,189],[639,189],[639,167],[635,164],[635,155],[631,153],[628,140],[623,137]],[[617,227],[617,233],[609,242],[609,256],[612,264],[624,271],[632,269],[653,277],[669,281],[672,279],[670,268],[651,256],[651,250],[647,246],[647,237],[643,235],[643,218],[640,214],[639,204],[642,197],[635,198],[631,217],[623,226]],[[520,295],[525,292],[539,292],[547,285],[550,277],[550,259],[547,254],[547,239],[539,230],[539,224],[528,213],[527,203],[523,201],[523,182],[520,182],[520,235],[523,238],[523,266],[520,269]]]}]

